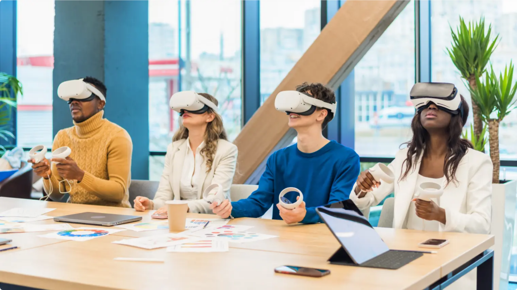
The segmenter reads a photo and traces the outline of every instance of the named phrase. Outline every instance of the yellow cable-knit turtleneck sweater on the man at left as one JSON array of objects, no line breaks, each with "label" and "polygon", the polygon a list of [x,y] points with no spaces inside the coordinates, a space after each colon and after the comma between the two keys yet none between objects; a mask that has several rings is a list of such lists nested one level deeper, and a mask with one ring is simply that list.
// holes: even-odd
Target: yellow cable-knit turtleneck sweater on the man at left
[{"label": "yellow cable-knit turtleneck sweater on the man at left", "polygon": [[[68,202],[131,207],[128,188],[133,143],[124,128],[102,119],[103,115],[104,111],[100,111],[84,122],[74,122],[73,127],[57,132],[52,151],[70,147],[70,157],[84,170],[81,182],[70,181]],[[50,180],[43,181],[45,192],[49,192],[52,182],[51,199],[64,197],[59,193],[59,186],[63,192],[70,190],[66,181],[59,183],[62,180],[56,165],[52,164]]]}]

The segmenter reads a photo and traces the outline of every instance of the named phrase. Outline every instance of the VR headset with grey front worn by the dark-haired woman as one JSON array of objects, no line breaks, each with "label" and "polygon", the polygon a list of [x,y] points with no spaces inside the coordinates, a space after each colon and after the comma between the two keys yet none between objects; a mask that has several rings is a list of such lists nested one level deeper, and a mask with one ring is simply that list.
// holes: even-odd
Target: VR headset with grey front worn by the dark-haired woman
[{"label": "VR headset with grey front worn by the dark-haired woman", "polygon": [[463,107],[458,89],[453,84],[447,83],[416,83],[409,92],[411,102],[417,112],[429,107],[431,103],[452,115],[461,114]]}]

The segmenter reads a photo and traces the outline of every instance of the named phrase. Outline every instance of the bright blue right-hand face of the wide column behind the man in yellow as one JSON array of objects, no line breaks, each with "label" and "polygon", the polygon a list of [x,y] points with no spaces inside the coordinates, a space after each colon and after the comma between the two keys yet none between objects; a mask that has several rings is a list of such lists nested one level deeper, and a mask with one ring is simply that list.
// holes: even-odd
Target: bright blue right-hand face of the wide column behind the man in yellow
[{"label": "bright blue right-hand face of the wide column behind the man in yellow", "polygon": [[104,2],[106,116],[133,141],[131,177],[149,178],[149,36],[147,1]]}]

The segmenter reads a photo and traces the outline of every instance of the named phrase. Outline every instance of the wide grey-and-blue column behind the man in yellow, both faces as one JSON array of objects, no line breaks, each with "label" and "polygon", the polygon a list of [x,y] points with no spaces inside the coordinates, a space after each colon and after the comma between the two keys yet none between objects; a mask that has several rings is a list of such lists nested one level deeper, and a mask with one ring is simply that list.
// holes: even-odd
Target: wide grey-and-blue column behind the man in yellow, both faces
[{"label": "wide grey-and-blue column behind the man in yellow, both faces", "polygon": [[131,178],[149,176],[147,1],[56,1],[53,132],[72,125],[57,86],[96,77],[108,88],[105,118],[133,141]]}]

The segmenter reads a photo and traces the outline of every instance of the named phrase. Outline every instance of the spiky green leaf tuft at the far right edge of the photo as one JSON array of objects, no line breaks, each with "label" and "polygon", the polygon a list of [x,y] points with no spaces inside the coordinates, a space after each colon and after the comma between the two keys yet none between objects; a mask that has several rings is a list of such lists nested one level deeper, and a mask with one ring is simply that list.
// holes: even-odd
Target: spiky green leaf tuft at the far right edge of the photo
[{"label": "spiky green leaf tuft at the far right edge of the photo", "polygon": [[499,74],[498,87],[495,91],[495,107],[499,121],[503,121],[503,119],[510,114],[517,101],[517,99],[514,99],[515,91],[517,90],[517,82],[515,82],[512,87],[512,78],[513,63],[510,61],[510,68],[505,67],[505,74]]}]

